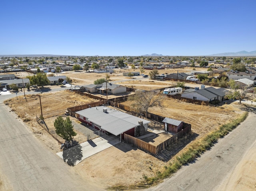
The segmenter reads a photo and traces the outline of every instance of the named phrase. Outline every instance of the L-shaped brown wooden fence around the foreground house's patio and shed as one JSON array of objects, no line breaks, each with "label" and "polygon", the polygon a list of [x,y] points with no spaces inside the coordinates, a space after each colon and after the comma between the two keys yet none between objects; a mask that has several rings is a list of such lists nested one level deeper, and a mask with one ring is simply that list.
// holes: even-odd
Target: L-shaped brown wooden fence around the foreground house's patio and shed
[{"label": "L-shaped brown wooden fence around the foreground house's patio and shed", "polygon": [[184,134],[188,133],[191,131],[191,125],[186,124],[186,127],[182,129],[180,132],[176,133],[174,136],[169,138],[168,140],[160,143],[158,146],[151,145],[143,140],[140,140],[136,137],[124,134],[124,141],[132,144],[146,152],[149,152],[153,155],[159,154],[162,150],[165,150],[170,144],[176,142],[179,138],[182,138]]}]

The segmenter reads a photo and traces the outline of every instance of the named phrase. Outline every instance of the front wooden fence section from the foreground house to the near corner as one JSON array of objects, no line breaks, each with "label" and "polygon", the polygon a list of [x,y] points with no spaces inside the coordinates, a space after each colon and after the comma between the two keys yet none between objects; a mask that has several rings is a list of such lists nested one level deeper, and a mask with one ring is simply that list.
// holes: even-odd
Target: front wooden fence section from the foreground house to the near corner
[{"label": "front wooden fence section from the foreground house to the near corner", "polygon": [[124,134],[124,141],[127,142],[127,143],[130,143],[144,151],[147,151],[151,154],[154,154],[156,155],[156,146],[154,145],[151,145],[145,141],[142,141],[136,137],[133,137],[133,136],[130,136],[128,134]]}]

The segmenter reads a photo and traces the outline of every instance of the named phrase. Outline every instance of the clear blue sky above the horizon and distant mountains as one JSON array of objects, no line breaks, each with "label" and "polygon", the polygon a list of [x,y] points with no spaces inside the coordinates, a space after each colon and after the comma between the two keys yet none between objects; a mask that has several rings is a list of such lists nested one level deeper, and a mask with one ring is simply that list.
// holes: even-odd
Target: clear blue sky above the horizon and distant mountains
[{"label": "clear blue sky above the horizon and distant mountains", "polygon": [[255,0],[3,0],[0,55],[256,50]]}]

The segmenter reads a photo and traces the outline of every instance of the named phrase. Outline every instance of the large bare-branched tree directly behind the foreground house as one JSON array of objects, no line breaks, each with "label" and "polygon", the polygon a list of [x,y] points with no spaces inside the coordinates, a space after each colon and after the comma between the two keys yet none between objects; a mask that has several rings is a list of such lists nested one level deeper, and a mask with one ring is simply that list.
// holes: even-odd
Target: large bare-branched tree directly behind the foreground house
[{"label": "large bare-branched tree directly behind the foreground house", "polygon": [[129,96],[128,100],[132,100],[131,104],[138,112],[146,112],[148,117],[148,108],[154,106],[162,107],[162,102],[166,98],[163,94],[156,93],[156,91],[136,90],[135,94]]}]

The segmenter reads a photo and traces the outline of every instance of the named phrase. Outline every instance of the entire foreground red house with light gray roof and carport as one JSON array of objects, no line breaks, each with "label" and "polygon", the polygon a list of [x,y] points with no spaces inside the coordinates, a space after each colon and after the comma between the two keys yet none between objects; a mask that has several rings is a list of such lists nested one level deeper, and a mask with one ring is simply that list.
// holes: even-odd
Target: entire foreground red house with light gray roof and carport
[{"label": "entire foreground red house with light gray roof and carport", "polygon": [[105,134],[120,136],[120,142],[124,140],[124,133],[135,136],[137,128],[141,126],[140,124],[142,124],[144,130],[147,131],[148,124],[150,123],[148,120],[104,106],[77,111],[76,116],[81,122]]}]

